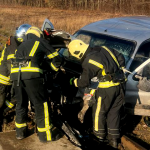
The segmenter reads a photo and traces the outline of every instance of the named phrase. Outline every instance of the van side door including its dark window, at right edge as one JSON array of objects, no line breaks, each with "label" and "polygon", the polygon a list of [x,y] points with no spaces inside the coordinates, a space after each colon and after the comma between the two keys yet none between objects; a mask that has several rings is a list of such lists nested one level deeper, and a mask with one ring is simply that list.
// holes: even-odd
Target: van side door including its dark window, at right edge
[{"label": "van side door including its dark window, at right edge", "polygon": [[[127,113],[134,115],[150,116],[150,91],[146,92],[144,87],[150,80],[150,43],[143,44],[130,66],[131,73],[128,75],[125,94],[125,108]],[[145,82],[139,82],[146,78]],[[146,82],[147,81],[147,82]],[[139,84],[143,84],[142,90]],[[150,86],[150,85],[149,85]]]}]

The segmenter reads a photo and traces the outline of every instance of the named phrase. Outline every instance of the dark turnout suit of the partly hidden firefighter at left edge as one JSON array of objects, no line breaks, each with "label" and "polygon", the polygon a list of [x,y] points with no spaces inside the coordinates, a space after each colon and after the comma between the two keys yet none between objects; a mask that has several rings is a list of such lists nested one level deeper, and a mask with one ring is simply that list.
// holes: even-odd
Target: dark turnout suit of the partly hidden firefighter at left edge
[{"label": "dark turnout suit of the partly hidden firefighter at left edge", "polygon": [[10,58],[19,43],[15,36],[11,36],[0,54],[0,118],[3,119],[7,116],[7,112],[15,107],[16,100],[11,93],[12,82],[10,80],[11,63]]}]

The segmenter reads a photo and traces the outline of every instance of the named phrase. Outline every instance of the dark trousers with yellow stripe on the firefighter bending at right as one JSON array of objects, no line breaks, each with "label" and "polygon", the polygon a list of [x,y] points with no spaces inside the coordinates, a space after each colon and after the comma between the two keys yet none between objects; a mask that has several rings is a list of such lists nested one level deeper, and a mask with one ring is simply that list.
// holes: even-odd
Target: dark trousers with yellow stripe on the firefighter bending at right
[{"label": "dark trousers with yellow stripe on the firefighter bending at right", "polygon": [[120,138],[120,110],[123,106],[121,87],[99,88],[96,91],[97,102],[92,107],[94,134],[109,139]]}]

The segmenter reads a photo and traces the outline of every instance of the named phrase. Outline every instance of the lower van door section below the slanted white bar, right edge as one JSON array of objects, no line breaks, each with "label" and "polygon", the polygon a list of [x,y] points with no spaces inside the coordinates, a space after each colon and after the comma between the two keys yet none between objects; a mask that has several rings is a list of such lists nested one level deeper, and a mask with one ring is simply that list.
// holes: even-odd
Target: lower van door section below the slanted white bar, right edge
[{"label": "lower van door section below the slanted white bar, right edge", "polygon": [[150,58],[128,76],[125,109],[129,114],[150,116]]}]

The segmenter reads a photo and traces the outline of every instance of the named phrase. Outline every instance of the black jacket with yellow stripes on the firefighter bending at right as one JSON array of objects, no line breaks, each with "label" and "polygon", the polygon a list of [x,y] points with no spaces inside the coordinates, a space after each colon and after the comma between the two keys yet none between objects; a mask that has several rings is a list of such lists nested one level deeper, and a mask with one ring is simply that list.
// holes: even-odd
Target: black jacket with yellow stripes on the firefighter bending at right
[{"label": "black jacket with yellow stripes on the firefighter bending at right", "polygon": [[79,79],[75,79],[76,87],[88,87],[90,80],[98,76],[100,79],[99,88],[109,88],[117,86],[120,83],[114,83],[111,78],[108,81],[102,80],[107,75],[117,73],[119,69],[125,66],[125,59],[122,54],[116,50],[109,49],[105,46],[88,48],[83,58],[83,72]]}]

